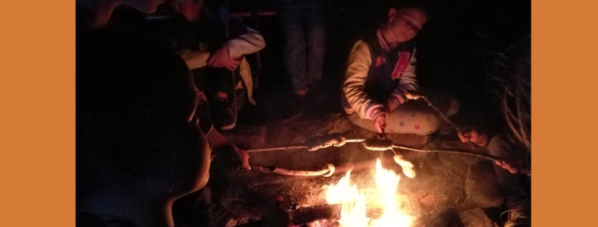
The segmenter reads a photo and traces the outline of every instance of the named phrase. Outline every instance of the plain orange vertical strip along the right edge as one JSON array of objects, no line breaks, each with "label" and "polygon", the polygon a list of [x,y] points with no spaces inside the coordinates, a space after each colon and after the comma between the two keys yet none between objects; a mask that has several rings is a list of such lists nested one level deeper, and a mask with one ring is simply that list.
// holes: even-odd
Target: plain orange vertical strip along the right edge
[{"label": "plain orange vertical strip along the right edge", "polygon": [[532,1],[534,226],[595,226],[597,6]]}]

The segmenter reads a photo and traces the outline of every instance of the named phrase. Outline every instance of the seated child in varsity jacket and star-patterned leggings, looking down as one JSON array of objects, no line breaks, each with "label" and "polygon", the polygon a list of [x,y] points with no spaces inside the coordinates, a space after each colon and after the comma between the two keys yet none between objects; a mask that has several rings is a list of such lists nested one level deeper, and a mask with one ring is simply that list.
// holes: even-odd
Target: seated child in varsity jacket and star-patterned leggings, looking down
[{"label": "seated child in varsity jacket and star-patterned leggings, looking down", "polygon": [[[353,45],[342,103],[353,124],[374,132],[427,135],[441,120],[418,99],[415,80],[415,40],[427,22],[427,12],[418,6],[391,7],[386,23],[374,34]],[[456,101],[448,114],[456,113]],[[388,127],[387,127],[388,123]]]}]

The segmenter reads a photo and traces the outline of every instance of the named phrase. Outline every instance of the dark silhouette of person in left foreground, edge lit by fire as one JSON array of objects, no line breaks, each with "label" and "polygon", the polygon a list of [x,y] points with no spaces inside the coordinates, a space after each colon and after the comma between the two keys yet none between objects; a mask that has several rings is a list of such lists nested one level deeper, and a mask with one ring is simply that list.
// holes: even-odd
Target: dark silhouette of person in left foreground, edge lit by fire
[{"label": "dark silhouette of person in left foreground, edge lit by fire", "polygon": [[173,201],[209,169],[185,62],[149,37],[96,30],[77,41],[78,225],[172,226]]}]

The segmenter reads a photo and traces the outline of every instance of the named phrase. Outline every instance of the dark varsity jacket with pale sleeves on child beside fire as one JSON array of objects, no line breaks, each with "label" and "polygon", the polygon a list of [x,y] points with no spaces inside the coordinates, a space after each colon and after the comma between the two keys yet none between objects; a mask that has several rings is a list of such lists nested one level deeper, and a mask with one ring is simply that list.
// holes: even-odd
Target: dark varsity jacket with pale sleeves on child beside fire
[{"label": "dark varsity jacket with pale sleeves on child beside fire", "polygon": [[347,115],[374,120],[405,103],[405,93],[417,91],[415,42],[386,45],[381,30],[355,42],[343,81],[341,103]]}]

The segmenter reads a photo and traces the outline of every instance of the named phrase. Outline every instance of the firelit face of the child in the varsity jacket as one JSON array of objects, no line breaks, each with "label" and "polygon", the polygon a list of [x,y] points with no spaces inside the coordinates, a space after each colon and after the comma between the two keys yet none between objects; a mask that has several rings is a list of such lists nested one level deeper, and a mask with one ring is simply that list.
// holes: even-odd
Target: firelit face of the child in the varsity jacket
[{"label": "firelit face of the child in the varsity jacket", "polygon": [[426,22],[427,17],[419,8],[401,8],[398,11],[391,8],[389,10],[388,23],[398,42],[407,42],[413,39]]}]

